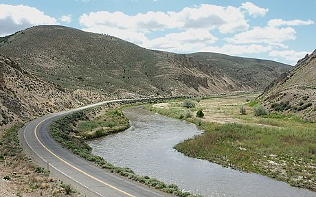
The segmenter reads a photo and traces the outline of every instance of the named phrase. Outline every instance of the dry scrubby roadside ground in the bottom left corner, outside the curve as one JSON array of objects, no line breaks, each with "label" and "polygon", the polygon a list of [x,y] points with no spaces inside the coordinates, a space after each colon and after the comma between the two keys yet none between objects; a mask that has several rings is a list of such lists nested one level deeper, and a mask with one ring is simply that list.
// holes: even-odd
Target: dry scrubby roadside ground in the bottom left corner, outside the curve
[{"label": "dry scrubby roadside ground in the bottom left corner, outside the curve", "polygon": [[5,189],[14,191],[16,196],[78,196],[70,185],[63,187],[65,183],[54,180],[49,176],[49,171],[35,165],[22,152],[18,137],[22,126],[12,126],[0,140],[0,174],[6,180]]}]

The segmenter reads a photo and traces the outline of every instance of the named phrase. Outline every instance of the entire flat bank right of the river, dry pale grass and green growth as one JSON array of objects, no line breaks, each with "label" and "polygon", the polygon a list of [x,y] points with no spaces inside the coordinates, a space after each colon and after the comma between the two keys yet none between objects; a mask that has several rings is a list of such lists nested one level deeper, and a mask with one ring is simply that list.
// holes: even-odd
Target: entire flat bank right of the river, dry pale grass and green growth
[{"label": "entire flat bank right of the river, dry pale grass and green growth", "polygon": [[[248,96],[247,96],[248,97]],[[188,109],[179,103],[154,104],[146,108],[186,119],[201,126],[203,135],[175,148],[190,157],[225,167],[267,175],[295,187],[316,191],[316,128],[293,115],[253,115],[254,102],[247,97],[223,97],[196,102],[205,117],[183,117]],[[245,105],[246,104],[246,105]],[[240,114],[244,106],[246,115]]]}]

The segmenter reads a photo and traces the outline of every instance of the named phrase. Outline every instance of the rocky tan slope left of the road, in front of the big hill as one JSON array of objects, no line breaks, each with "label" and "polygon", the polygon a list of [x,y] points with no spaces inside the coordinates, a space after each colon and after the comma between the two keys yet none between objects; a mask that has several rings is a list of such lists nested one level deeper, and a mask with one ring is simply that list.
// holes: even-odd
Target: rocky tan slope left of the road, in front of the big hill
[{"label": "rocky tan slope left of the road, in front of the big hill", "polygon": [[0,128],[80,104],[62,88],[40,80],[11,58],[0,55]]}]

